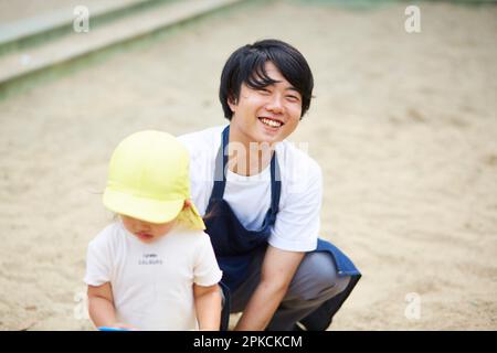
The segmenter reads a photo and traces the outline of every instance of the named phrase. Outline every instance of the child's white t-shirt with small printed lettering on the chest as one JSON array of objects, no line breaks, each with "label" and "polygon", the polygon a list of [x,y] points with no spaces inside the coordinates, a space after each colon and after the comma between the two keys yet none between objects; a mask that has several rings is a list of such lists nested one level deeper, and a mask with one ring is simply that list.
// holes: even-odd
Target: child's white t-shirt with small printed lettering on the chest
[{"label": "child's white t-shirt with small printed lettering on the chest", "polygon": [[173,228],[151,244],[123,223],[104,228],[88,245],[85,282],[110,282],[117,320],[140,330],[194,330],[193,282],[221,280],[209,235]]}]

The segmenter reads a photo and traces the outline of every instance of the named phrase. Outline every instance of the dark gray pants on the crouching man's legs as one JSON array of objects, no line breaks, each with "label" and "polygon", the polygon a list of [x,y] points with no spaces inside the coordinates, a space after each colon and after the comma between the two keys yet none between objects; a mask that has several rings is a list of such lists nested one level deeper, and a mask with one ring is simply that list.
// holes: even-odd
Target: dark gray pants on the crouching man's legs
[{"label": "dark gray pants on the crouching man's legs", "polygon": [[[265,252],[254,254],[246,280],[231,293],[231,312],[243,311],[261,279]],[[288,291],[267,325],[272,331],[289,331],[321,303],[343,291],[350,276],[338,277],[328,253],[307,253],[297,268]]]}]

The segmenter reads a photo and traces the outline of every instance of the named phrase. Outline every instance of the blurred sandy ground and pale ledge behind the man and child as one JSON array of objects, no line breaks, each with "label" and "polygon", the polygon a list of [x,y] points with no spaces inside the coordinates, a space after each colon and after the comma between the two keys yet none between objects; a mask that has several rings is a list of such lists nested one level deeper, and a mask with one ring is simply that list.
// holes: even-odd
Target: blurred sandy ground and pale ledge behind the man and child
[{"label": "blurred sandy ground and pale ledge behind the man and child", "polygon": [[296,46],[321,234],[363,277],[330,330],[497,329],[494,1],[0,0],[0,330],[92,330],[118,141],[223,125],[237,47]]}]

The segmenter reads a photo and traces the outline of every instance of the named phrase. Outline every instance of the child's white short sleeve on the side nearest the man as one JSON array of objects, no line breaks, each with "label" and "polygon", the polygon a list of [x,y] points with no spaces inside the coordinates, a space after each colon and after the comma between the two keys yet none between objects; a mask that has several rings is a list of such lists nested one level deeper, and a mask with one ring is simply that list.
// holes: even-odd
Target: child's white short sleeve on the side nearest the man
[{"label": "child's white short sleeve on the side nearest the man", "polygon": [[209,235],[202,233],[200,237],[197,244],[198,249],[194,259],[193,281],[199,286],[209,287],[218,284],[223,274],[215,259]]}]

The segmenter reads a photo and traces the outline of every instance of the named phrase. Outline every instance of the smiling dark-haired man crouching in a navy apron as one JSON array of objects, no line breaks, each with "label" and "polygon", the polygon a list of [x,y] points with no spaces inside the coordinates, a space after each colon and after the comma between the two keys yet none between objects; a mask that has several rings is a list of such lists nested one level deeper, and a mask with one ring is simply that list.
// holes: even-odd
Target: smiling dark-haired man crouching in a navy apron
[{"label": "smiling dark-haired man crouching in a navy apron", "polygon": [[192,200],[223,270],[224,310],[243,311],[236,330],[326,330],[360,278],[319,239],[319,165],[285,140],[313,87],[292,45],[242,46],[221,75],[230,124],[180,137],[191,154]]}]

